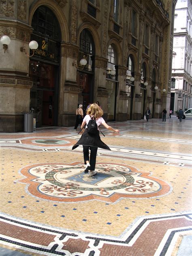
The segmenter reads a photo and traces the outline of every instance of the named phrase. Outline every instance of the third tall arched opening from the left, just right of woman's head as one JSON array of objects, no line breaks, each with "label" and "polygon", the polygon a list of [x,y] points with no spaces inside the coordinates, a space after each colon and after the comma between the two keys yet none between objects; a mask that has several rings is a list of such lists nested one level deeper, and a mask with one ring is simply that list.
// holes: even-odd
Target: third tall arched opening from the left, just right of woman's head
[{"label": "third tall arched opening from the left, just right of woman's head", "polygon": [[106,75],[106,88],[108,92],[107,99],[107,120],[115,121],[115,109],[116,109],[116,94],[118,87],[118,66],[117,66],[117,54],[113,45],[109,45],[107,51],[107,75]]}]

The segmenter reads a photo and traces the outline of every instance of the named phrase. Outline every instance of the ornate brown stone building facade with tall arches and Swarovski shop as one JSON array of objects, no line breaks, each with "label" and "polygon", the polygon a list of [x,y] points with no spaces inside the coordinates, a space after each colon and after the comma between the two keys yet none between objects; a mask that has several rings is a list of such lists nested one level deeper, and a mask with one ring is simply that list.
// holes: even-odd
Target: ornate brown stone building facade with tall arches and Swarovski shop
[{"label": "ornate brown stone building facade with tall arches and Swarovski shop", "polygon": [[[99,101],[108,121],[169,110],[176,0],[0,0],[0,131],[74,126]],[[29,42],[38,49],[29,51]],[[26,49],[26,53],[21,49]],[[28,56],[29,55],[29,56]],[[85,59],[86,65],[80,60]]]}]

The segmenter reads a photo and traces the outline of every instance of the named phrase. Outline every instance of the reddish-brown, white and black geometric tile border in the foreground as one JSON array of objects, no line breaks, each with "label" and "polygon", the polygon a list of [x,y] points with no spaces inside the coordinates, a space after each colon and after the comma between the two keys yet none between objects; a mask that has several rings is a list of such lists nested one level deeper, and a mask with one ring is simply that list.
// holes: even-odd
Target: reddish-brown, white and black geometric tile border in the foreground
[{"label": "reddish-brown, white and black geometric tile border in the foreground", "polygon": [[192,218],[188,213],[139,218],[115,239],[42,226],[3,214],[0,214],[0,229],[3,245],[43,255],[164,256],[173,252],[175,237],[192,234]]}]

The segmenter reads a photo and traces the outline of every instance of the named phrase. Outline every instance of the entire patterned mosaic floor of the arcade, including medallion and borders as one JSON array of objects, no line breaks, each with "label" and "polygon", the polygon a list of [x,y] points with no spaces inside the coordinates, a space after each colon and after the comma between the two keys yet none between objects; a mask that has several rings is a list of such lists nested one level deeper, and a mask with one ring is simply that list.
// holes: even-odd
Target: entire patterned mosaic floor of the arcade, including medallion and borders
[{"label": "entire patterned mosaic floor of the arcade, including medallion and borders", "polygon": [[192,255],[192,120],[110,125],[93,177],[73,127],[0,134],[0,255]]}]

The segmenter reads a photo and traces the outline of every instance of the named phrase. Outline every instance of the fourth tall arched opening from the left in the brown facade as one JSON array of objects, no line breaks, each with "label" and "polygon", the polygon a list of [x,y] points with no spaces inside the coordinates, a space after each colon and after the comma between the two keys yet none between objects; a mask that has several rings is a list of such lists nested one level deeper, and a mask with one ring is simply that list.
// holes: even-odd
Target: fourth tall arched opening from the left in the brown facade
[{"label": "fourth tall arched opening from the left in the brown facade", "polygon": [[132,120],[132,107],[133,107],[133,97],[134,97],[134,59],[130,54],[127,59],[127,75],[126,75],[126,94],[128,96],[127,100],[127,113],[128,119]]}]

